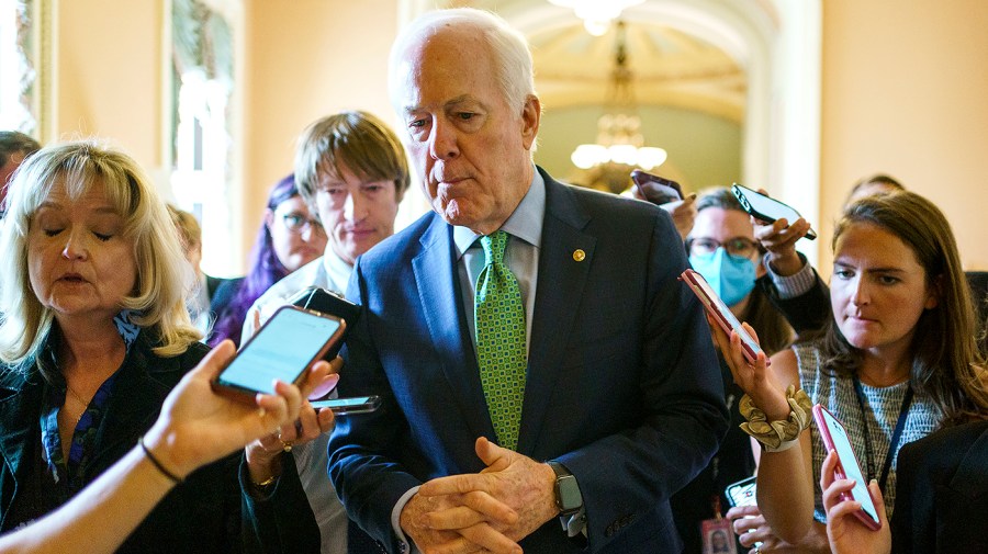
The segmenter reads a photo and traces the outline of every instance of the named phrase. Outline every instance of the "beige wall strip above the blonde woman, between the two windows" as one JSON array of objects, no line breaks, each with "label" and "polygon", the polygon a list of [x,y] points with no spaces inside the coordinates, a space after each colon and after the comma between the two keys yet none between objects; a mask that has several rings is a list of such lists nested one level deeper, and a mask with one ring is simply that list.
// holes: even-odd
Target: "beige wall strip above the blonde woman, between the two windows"
[{"label": "beige wall strip above the blonde woman, between the two windows", "polygon": [[97,136],[160,165],[161,2],[58,2],[55,139]]}]

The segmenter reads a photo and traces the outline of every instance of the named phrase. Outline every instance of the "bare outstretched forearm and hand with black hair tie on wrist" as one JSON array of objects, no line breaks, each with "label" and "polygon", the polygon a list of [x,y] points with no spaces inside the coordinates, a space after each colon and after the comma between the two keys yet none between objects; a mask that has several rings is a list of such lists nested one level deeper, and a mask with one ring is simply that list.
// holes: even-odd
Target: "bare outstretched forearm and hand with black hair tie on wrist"
[{"label": "bare outstretched forearm and hand with black hair tie on wrist", "polygon": [[176,478],[183,479],[294,420],[303,396],[329,371],[327,363],[318,362],[302,391],[277,382],[277,394],[258,395],[250,406],[221,397],[210,387],[210,380],[233,354],[228,340],[216,347],[168,395],[158,420],[144,436],[144,448],[131,449],[58,510],[0,538],[0,552],[64,553],[67,545],[88,553],[113,552],[178,483]]}]

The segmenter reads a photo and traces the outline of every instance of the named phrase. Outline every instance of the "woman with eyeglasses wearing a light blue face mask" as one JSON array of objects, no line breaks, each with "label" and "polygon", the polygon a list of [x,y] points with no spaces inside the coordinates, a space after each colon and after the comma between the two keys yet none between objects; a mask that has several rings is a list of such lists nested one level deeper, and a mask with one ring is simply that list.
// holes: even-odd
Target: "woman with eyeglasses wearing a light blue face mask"
[{"label": "woman with eyeglasses wearing a light blue face mask", "polygon": [[[741,320],[750,321],[762,348],[776,352],[793,340],[793,329],[775,310],[755,281],[765,274],[761,246],[754,240],[751,217],[727,188],[708,189],[696,201],[697,215],[686,237],[689,263]],[[712,338],[711,338],[712,340]],[[692,483],[672,498],[673,517],[686,545],[683,552],[703,551],[700,524],[728,509],[723,491],[728,485],[751,477],[755,460],[751,441],[738,426],[738,399],[743,394],[731,377],[730,368],[718,353],[723,378],[723,397],[731,425],[720,451]]]}]

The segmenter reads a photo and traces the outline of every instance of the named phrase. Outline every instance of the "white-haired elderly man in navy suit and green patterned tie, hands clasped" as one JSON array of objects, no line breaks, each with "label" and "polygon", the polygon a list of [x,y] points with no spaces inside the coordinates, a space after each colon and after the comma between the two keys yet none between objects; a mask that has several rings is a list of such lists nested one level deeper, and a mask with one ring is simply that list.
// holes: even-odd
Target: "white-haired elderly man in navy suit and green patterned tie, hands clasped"
[{"label": "white-haired elderly man in navy suit and green patterned tie, hands clasped", "polygon": [[665,212],[531,160],[525,39],[472,9],[392,48],[390,92],[433,213],[361,257],[329,474],[391,552],[678,552],[669,497],[727,428]]}]

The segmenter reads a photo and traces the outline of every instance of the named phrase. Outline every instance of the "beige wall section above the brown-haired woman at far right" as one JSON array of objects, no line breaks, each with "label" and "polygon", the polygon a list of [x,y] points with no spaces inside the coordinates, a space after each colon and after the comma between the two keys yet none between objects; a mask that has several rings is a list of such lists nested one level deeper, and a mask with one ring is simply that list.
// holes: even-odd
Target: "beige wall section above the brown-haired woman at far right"
[{"label": "beige wall section above the brown-haired woman at far right", "polygon": [[944,211],[988,270],[988,2],[823,2],[821,267],[851,184],[889,173]]}]

